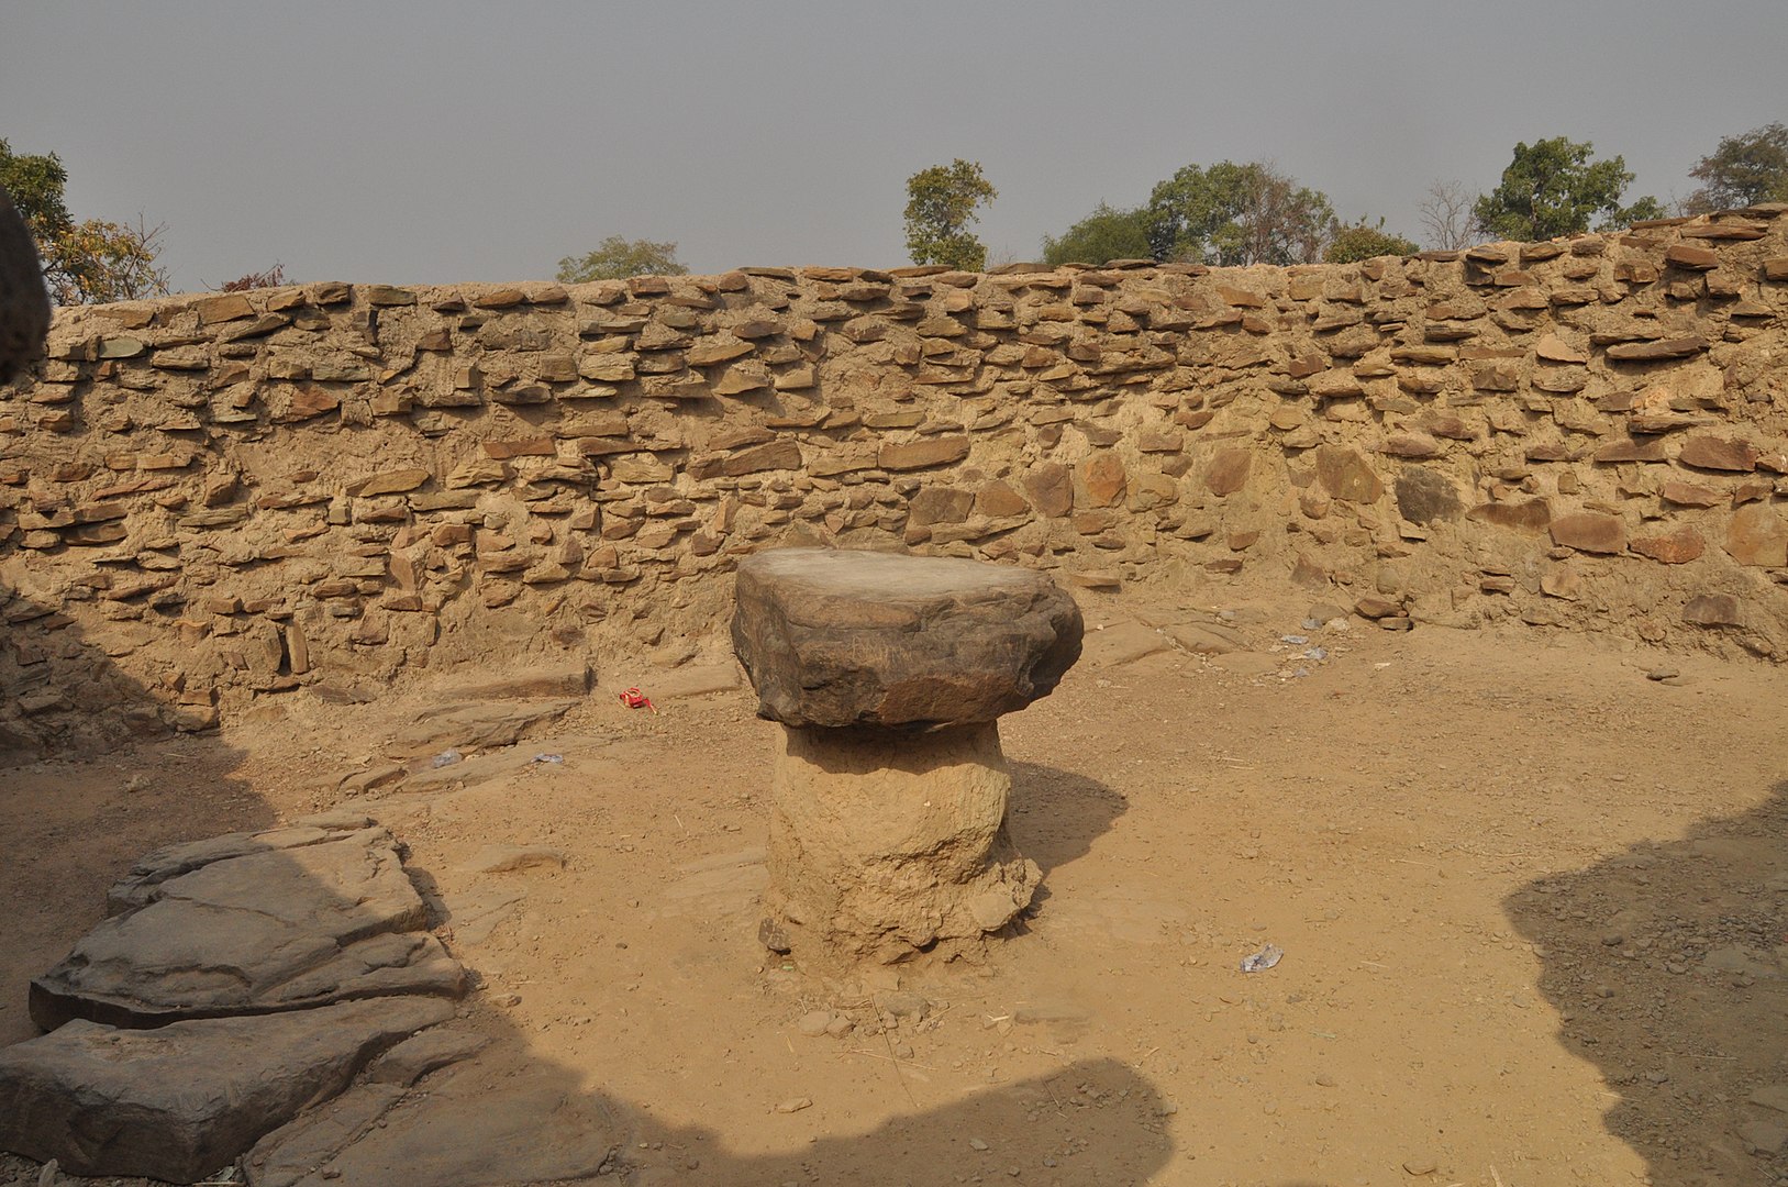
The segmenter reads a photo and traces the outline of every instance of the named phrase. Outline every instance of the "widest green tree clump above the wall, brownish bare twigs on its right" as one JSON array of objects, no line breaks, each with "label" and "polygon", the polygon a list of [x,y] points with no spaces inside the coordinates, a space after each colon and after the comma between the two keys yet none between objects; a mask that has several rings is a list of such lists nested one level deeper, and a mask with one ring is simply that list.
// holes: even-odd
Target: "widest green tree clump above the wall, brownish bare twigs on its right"
[{"label": "widest green tree clump above the wall, brownish bare twigs on its right", "polygon": [[1148,197],[1155,259],[1209,265],[1296,265],[1321,259],[1334,207],[1273,164],[1187,164]]}]

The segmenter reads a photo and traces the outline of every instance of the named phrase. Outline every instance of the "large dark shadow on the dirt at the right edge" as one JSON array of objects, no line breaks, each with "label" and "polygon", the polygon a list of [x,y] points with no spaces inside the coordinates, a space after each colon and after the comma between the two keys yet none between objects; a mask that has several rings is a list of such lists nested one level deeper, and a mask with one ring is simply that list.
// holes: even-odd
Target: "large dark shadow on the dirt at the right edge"
[{"label": "large dark shadow on the dirt at the right edge", "polygon": [[1788,781],[1504,906],[1539,953],[1559,1042],[1618,1092],[1607,1130],[1650,1182],[1788,1182]]}]

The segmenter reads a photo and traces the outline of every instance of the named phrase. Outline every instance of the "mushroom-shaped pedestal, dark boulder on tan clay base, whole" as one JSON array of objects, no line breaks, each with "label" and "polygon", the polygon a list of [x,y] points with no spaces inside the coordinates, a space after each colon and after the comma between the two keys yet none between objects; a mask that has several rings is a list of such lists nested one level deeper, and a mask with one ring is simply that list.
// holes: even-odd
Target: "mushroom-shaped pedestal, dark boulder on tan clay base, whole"
[{"label": "mushroom-shaped pedestal, dark boulder on tan clay base, whole", "polygon": [[763,940],[819,962],[978,949],[1041,878],[1005,829],[998,719],[1080,658],[1048,576],[780,549],[738,567],[733,647],[781,722]]}]

